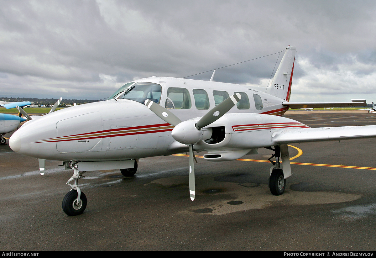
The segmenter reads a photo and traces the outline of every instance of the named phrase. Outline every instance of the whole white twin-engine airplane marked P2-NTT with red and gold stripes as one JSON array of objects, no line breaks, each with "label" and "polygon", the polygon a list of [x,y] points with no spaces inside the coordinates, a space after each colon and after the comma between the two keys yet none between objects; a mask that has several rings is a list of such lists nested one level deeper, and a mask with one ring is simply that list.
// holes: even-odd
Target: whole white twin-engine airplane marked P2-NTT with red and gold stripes
[{"label": "whole white twin-engine airplane marked P2-NTT with red and gold stripes", "polygon": [[189,192],[194,200],[194,150],[206,151],[203,157],[208,161],[235,160],[257,153],[258,148],[273,150],[270,191],[280,195],[291,176],[288,143],[376,137],[376,126],[310,128],[280,117],[289,107],[365,105],[365,100],[289,102],[296,48],[288,46],[285,51],[265,92],[212,79],[139,79],[104,102],[62,109],[26,122],[12,135],[9,146],[38,158],[41,170],[44,159],[63,161],[66,169],[73,169],[67,182],[71,191],[62,202],[69,216],[86,208],[86,196],[78,187],[84,171],[120,169],[124,176],[133,176],[138,159],[186,151],[190,153]]}]

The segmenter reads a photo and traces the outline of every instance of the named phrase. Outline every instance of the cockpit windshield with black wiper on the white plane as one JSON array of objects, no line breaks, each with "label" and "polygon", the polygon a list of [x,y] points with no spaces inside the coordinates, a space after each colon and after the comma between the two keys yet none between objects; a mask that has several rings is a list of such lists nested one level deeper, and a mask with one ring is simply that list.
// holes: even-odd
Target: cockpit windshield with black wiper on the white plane
[{"label": "cockpit windshield with black wiper on the white plane", "polygon": [[129,99],[143,104],[145,100],[150,99],[159,104],[161,94],[162,87],[159,84],[152,82],[130,82],[112,94],[109,99]]}]

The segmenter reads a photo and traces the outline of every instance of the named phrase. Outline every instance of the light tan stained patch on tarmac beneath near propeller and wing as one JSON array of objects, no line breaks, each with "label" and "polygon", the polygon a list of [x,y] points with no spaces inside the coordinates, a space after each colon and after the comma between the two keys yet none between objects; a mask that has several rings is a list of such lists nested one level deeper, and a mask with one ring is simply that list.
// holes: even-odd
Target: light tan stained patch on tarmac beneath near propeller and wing
[{"label": "light tan stained patch on tarmac beneath near propeller and wing", "polygon": [[[287,184],[284,194],[274,196],[270,193],[267,184],[215,181],[214,178],[217,176],[196,176],[196,200],[203,195],[209,195],[212,200],[202,204],[195,200],[194,207],[191,207],[192,209],[188,212],[221,215],[249,209],[263,209],[273,205],[290,206],[350,202],[361,197],[359,194],[293,191],[290,189],[292,184]],[[161,178],[150,182],[150,184],[161,184],[165,187],[179,185],[188,190],[188,176]],[[189,198],[188,191],[187,198]],[[376,206],[369,209],[376,210]],[[354,213],[355,209],[346,212]],[[359,213],[355,212],[354,214]]]}]

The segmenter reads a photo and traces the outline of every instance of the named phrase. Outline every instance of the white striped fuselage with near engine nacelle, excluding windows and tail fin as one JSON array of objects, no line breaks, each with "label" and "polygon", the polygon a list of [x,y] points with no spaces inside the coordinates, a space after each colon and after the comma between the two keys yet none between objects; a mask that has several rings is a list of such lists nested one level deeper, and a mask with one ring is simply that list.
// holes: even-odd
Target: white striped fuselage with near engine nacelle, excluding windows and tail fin
[{"label": "white striped fuselage with near engine nacelle, excluding windows and tail fin", "polygon": [[[187,90],[191,107],[170,109],[182,121],[202,117],[214,108],[213,91],[247,95],[249,104],[235,105],[226,115],[204,128],[204,134],[209,139],[212,127],[224,127],[225,134],[221,141],[200,141],[194,145],[194,149],[208,152],[243,150],[245,155],[247,150],[272,146],[271,135],[274,131],[304,126],[294,120],[278,117],[288,109],[282,105],[285,100],[263,93],[258,88],[170,77],[151,77],[135,82],[161,85],[160,105],[166,102],[169,87]],[[194,90],[206,91],[209,103],[205,109],[197,108],[200,100],[194,96]],[[28,121],[15,132],[10,145],[18,153],[41,159],[137,159],[185,151],[187,146],[171,137],[172,129],[173,126],[157,117],[142,103],[129,99],[109,99],[62,109],[38,120]]]}]

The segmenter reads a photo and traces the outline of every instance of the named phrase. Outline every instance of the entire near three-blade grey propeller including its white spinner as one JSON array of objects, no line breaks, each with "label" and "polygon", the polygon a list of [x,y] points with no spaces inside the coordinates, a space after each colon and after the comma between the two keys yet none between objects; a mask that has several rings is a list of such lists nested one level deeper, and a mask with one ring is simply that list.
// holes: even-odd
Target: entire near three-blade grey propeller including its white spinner
[{"label": "entire near three-blade grey propeller including its white spinner", "polygon": [[[236,93],[219,105],[215,106],[208,113],[206,113],[197,123],[195,120],[181,121],[176,115],[171,113],[168,109],[163,108],[157,103],[146,100],[145,105],[153,111],[158,117],[165,122],[175,126],[171,132],[172,137],[179,143],[189,146],[189,191],[191,200],[195,197],[195,183],[194,183],[194,162],[196,159],[193,153],[193,144],[202,140],[203,131],[202,128],[217,121],[220,117],[226,114],[233,106],[235,106],[241,99],[241,95]],[[197,161],[196,161],[197,162]]]}]

